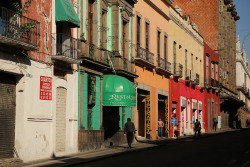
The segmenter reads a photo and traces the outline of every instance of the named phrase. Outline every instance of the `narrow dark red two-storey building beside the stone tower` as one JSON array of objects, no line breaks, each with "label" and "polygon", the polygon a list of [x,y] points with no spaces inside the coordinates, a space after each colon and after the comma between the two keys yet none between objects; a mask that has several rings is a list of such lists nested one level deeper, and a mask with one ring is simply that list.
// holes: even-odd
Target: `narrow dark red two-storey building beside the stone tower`
[{"label": "narrow dark red two-storey building beside the stone tower", "polygon": [[204,42],[204,111],[205,131],[213,128],[213,118],[218,121],[220,128],[219,100],[219,55]]}]

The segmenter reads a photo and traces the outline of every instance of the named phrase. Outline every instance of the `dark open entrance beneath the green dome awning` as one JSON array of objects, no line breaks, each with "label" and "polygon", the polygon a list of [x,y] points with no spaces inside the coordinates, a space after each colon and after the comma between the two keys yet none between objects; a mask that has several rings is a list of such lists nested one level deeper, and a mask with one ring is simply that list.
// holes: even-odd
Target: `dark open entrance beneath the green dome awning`
[{"label": "dark open entrance beneath the green dome awning", "polygon": [[104,139],[111,138],[119,131],[119,107],[103,106]]}]

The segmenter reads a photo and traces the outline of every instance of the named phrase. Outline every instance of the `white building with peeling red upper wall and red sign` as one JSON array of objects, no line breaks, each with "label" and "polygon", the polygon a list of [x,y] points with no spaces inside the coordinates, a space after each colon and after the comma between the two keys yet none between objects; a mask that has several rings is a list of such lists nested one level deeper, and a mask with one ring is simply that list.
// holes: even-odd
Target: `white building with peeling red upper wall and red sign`
[{"label": "white building with peeling red upper wall and red sign", "polygon": [[[74,9],[70,0],[33,1],[29,9],[36,10],[24,18],[12,14],[9,2],[1,4],[0,164],[6,158],[27,162],[76,153],[80,61],[75,27],[80,20],[68,17],[77,5]],[[71,15],[59,20],[56,7],[64,5],[60,15],[69,13],[64,10]],[[23,32],[27,18],[38,23]]]}]

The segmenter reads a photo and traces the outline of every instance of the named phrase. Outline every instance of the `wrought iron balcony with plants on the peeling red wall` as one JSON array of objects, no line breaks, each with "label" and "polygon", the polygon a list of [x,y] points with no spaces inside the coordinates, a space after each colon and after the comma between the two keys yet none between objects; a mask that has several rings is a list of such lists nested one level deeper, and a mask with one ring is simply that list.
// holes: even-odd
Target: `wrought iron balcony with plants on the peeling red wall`
[{"label": "wrought iron balcony with plants on the peeling red wall", "polygon": [[40,23],[0,7],[0,43],[26,50],[38,50]]}]

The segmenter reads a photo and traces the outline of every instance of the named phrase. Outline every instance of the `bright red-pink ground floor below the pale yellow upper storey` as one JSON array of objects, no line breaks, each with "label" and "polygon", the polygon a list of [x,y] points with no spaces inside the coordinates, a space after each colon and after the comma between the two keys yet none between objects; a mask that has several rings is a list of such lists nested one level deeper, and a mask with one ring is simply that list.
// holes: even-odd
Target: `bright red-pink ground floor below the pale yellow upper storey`
[{"label": "bright red-pink ground floor below the pale yellow upper storey", "polygon": [[178,126],[170,125],[170,137],[173,137],[173,131],[176,130],[176,136],[184,136],[193,134],[193,123],[196,119],[201,122],[202,131],[204,132],[204,124],[206,114],[204,112],[204,93],[203,89],[197,86],[197,82],[189,79],[174,78],[170,80],[170,118],[175,117],[178,120]]}]

